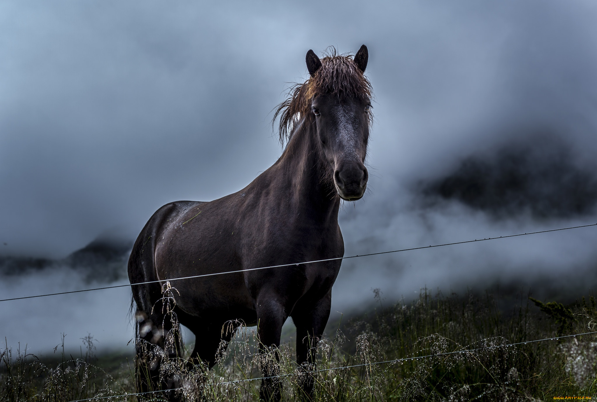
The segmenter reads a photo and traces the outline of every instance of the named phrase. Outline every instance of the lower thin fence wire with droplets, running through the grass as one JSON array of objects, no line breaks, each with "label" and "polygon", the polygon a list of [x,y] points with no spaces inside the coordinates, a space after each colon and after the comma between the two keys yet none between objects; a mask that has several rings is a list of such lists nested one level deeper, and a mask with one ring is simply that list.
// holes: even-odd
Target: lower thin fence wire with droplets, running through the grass
[{"label": "lower thin fence wire with droplets, running through the grass", "polygon": [[[401,361],[418,360],[418,359],[430,358],[430,357],[447,356],[447,355],[454,355],[454,354],[460,354],[460,353],[473,353],[473,352],[485,351],[487,349],[509,348],[510,346],[526,345],[527,343],[543,342],[545,340],[560,340],[560,339],[569,338],[569,337],[577,337],[577,336],[583,336],[583,335],[594,335],[594,334],[597,334],[597,331],[577,333],[577,334],[573,334],[573,335],[555,336],[555,337],[544,338],[544,339],[526,340],[524,342],[509,343],[507,345],[483,346],[482,348],[475,348],[475,349],[463,349],[463,350],[459,350],[459,351],[434,353],[434,354],[423,355],[423,356],[403,357],[403,358],[398,358],[398,359],[393,359],[393,360],[374,361],[372,363],[353,364],[352,366],[330,367],[329,369],[319,369],[319,370],[304,370],[304,373],[314,374],[314,373],[330,372],[333,370],[341,370],[341,369],[356,369],[358,367],[376,366],[377,364],[391,364],[391,363],[399,363]],[[250,381],[257,381],[257,380],[264,380],[264,379],[271,379],[271,378],[284,378],[284,377],[293,376],[293,375],[296,375],[296,373],[281,374],[281,375],[269,376],[269,377],[247,378],[247,379],[242,379],[242,380],[233,380],[233,381],[224,381],[224,382],[213,382],[213,383],[205,384],[205,386],[230,385],[230,384],[235,384],[235,383],[250,382]],[[78,399],[78,400],[73,400],[73,401],[69,401],[69,402],[83,402],[83,401],[93,401],[93,400],[101,400],[101,399],[109,399],[109,398],[133,397],[136,395],[155,394],[157,392],[179,391],[181,389],[183,389],[183,388],[180,387],[180,388],[171,388],[171,389],[161,389],[159,391],[136,392],[134,394],[112,395],[109,397],[85,398],[85,399]]]}]

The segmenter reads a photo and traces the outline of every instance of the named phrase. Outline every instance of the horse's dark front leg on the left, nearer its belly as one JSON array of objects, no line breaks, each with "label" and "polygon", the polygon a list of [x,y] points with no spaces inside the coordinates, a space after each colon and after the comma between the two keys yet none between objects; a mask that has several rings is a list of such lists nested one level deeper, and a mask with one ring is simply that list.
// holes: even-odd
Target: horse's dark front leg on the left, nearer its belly
[{"label": "horse's dark front leg on the left, nearer its belly", "polygon": [[278,348],[282,325],[288,315],[282,303],[279,303],[275,297],[260,297],[256,304],[261,374],[269,377],[261,380],[259,397],[262,401],[277,402],[282,397],[282,381],[275,377],[279,375]]}]

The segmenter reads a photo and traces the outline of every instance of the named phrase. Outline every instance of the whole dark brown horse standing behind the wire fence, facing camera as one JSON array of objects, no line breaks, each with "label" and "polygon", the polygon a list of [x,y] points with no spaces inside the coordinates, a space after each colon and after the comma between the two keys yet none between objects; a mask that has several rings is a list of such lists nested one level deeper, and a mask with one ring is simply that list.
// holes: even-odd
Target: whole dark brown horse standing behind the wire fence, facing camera
[{"label": "whole dark brown horse standing behind the wire fence, facing camera", "polygon": [[[279,346],[282,324],[292,317],[297,363],[315,363],[341,260],[244,270],[343,256],[338,208],[341,200],[359,200],[368,178],[367,60],[365,45],[354,57],[334,50],[321,60],[309,50],[310,78],[293,87],[274,116],[280,118],[280,139],[287,142],[278,161],[241,191],[219,200],[164,205],[141,231],[128,263],[131,284],[237,271],[173,283],[174,312],[196,336],[191,355],[195,361],[213,366],[221,340],[232,337],[222,330],[230,320],[258,324],[263,352]],[[142,362],[147,358],[143,360],[141,343],[164,348],[164,334],[176,323],[164,318],[159,283],[132,289]],[[179,340],[167,353],[179,355]],[[156,388],[159,364],[155,356],[147,364],[146,379],[138,377],[141,389]],[[263,371],[264,376],[274,373]],[[176,380],[164,383],[162,378],[161,386],[174,388]],[[304,394],[310,395],[312,388],[307,376]],[[279,380],[263,380],[260,396],[279,400]]]}]

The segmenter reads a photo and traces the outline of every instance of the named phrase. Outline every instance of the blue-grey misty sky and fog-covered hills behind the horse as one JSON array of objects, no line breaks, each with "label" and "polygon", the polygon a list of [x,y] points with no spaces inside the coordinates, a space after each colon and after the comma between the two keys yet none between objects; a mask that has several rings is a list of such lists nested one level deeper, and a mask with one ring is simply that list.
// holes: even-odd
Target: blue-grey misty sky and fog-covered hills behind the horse
[{"label": "blue-grey misty sky and fog-covered hills behind the horse", "polygon": [[[304,55],[369,48],[365,197],[346,255],[597,222],[597,4],[11,1],[0,4],[0,299],[127,283],[174,200],[247,185],[281,154],[272,109]],[[597,228],[343,262],[332,319],[422,287],[586,294]],[[133,337],[128,288],[0,304],[9,346]]]}]

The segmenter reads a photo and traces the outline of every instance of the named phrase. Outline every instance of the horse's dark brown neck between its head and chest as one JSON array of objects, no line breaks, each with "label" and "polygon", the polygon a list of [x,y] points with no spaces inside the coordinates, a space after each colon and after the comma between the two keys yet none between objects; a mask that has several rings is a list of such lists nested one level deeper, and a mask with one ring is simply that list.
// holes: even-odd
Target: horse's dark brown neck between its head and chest
[{"label": "horse's dark brown neck between its head and chest", "polygon": [[338,219],[340,199],[333,185],[333,171],[312,124],[302,121],[298,125],[279,162],[288,175],[297,208],[314,213],[318,219]]}]

